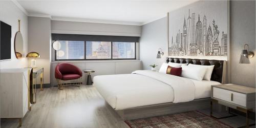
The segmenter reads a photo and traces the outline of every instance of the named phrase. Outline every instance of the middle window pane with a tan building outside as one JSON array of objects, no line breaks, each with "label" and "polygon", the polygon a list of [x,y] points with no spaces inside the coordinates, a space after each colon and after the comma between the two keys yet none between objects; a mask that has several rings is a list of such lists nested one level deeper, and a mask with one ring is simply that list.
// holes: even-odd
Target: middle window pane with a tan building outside
[{"label": "middle window pane with a tan building outside", "polygon": [[86,59],[111,59],[111,42],[86,41]]}]

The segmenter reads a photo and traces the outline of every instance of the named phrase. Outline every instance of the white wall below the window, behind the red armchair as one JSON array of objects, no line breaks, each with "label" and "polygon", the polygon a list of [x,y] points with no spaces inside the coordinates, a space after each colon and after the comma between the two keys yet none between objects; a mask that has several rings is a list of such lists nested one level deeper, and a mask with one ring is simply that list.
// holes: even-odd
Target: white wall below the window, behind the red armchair
[{"label": "white wall below the window, behind the red armchair", "polygon": [[[92,79],[96,75],[113,75],[113,74],[130,74],[135,70],[141,70],[140,60],[86,60],[86,61],[67,61],[72,65],[77,66],[81,71],[94,70],[95,73],[91,73]],[[51,84],[52,86],[57,84],[54,76],[55,67],[58,62],[52,62],[51,64]],[[86,73],[83,73],[82,82],[86,84]],[[68,81],[70,82],[70,81]]]}]

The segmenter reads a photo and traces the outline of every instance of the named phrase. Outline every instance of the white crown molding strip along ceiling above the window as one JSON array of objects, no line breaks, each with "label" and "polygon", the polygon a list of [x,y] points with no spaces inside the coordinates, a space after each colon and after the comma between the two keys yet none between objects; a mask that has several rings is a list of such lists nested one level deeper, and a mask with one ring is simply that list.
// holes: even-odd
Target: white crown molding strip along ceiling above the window
[{"label": "white crown molding strip along ceiling above the window", "polygon": [[140,22],[122,22],[122,21],[104,20],[104,19],[70,18],[70,17],[52,16],[52,20],[60,20],[60,21],[68,21],[68,22],[87,22],[87,23],[141,26]]}]

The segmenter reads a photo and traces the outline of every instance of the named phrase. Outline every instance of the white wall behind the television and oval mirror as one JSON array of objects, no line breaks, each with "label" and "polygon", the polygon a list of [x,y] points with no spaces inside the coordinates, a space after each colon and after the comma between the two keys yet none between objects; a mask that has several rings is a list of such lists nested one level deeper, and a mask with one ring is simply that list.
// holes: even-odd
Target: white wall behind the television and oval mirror
[{"label": "white wall behind the television and oval mirror", "polygon": [[[17,59],[14,52],[14,37],[18,31],[18,19],[20,19],[20,31],[24,41],[24,56]],[[0,20],[12,26],[11,60],[0,61],[1,69],[28,67],[26,55],[28,53],[28,16],[22,12],[12,1],[0,1]]]}]

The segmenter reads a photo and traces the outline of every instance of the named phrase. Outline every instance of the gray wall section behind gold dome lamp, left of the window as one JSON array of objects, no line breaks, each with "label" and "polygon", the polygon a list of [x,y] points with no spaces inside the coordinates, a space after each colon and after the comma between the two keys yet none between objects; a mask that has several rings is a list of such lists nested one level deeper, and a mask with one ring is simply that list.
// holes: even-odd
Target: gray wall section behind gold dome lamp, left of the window
[{"label": "gray wall section behind gold dome lamp, left of the window", "polygon": [[36,67],[44,68],[44,83],[50,83],[51,20],[46,17],[28,17],[28,51],[38,52]]}]

